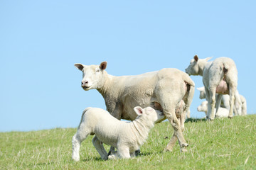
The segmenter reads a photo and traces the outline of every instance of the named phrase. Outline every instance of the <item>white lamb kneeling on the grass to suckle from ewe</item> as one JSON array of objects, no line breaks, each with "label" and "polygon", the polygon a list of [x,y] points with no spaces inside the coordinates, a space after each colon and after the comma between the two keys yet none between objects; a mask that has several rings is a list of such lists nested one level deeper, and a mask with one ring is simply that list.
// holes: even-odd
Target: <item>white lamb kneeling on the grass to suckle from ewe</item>
[{"label": "white lamb kneeling on the grass to suckle from ewe", "polygon": [[[151,107],[134,108],[137,118],[132,122],[117,120],[107,111],[101,108],[86,108],[82,112],[78,132],[73,136],[72,159],[79,161],[79,150],[83,140],[88,135],[95,135],[92,142],[102,159],[107,159],[107,152],[102,142],[117,148],[117,157],[134,157],[135,150],[146,141],[149,130],[154,127],[154,123],[164,118],[161,111],[156,111]],[[113,158],[114,156],[110,156]]]}]

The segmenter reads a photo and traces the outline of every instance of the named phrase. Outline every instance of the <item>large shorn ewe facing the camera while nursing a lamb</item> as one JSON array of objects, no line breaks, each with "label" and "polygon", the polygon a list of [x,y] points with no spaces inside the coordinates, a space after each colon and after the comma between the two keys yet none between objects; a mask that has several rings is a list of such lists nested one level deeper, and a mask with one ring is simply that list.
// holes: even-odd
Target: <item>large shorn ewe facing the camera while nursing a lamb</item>
[{"label": "large shorn ewe facing the camera while nursing a lamb", "polygon": [[178,139],[181,152],[186,151],[188,144],[175,109],[181,101],[185,103],[184,112],[191,105],[195,84],[188,74],[169,68],[136,76],[115,77],[105,71],[107,62],[100,65],[75,64],[75,67],[83,73],[82,89],[97,89],[105,99],[107,111],[114,118],[134,120],[137,117],[133,111],[135,106],[154,108],[154,104],[159,103],[174,128],[171,144],[166,146],[166,151],[172,150],[175,139]]}]

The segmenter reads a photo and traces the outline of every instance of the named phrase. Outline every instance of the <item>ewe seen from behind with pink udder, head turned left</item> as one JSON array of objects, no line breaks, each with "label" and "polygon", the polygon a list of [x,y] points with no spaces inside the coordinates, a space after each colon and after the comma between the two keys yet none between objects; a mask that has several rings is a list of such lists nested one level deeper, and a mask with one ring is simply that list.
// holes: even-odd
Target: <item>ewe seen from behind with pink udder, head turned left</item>
[{"label": "ewe seen from behind with pink udder, head turned left", "polygon": [[[210,58],[199,59],[195,55],[188,68],[186,68],[186,73],[203,76],[206,99],[210,101],[208,102],[207,118],[210,120],[215,118],[215,104],[216,111],[218,112],[223,94],[230,95],[228,118],[233,118],[235,91],[237,91],[238,86],[238,70],[236,69],[235,62],[228,57],[219,57],[213,60],[213,62],[208,62]],[[215,94],[219,94],[217,100]]]}]

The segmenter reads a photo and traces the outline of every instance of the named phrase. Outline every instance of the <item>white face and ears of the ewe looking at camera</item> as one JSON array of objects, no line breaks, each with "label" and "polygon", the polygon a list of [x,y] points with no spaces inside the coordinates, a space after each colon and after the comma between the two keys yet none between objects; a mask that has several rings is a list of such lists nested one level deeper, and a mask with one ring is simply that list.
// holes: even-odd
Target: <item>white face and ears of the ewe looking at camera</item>
[{"label": "white face and ears of the ewe looking at camera", "polygon": [[82,89],[88,91],[99,87],[107,62],[102,62],[100,65],[75,64],[75,67],[82,71]]}]

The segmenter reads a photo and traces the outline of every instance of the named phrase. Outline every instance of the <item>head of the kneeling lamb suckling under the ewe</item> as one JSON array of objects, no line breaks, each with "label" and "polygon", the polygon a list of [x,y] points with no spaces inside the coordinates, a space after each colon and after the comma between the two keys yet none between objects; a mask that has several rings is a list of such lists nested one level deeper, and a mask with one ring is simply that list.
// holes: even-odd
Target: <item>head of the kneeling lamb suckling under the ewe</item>
[{"label": "head of the kneeling lamb suckling under the ewe", "polygon": [[149,123],[157,123],[159,120],[165,118],[164,113],[161,111],[155,110],[154,108],[147,107],[141,108],[140,106],[136,106],[134,108],[135,113],[144,120],[148,121]]}]

